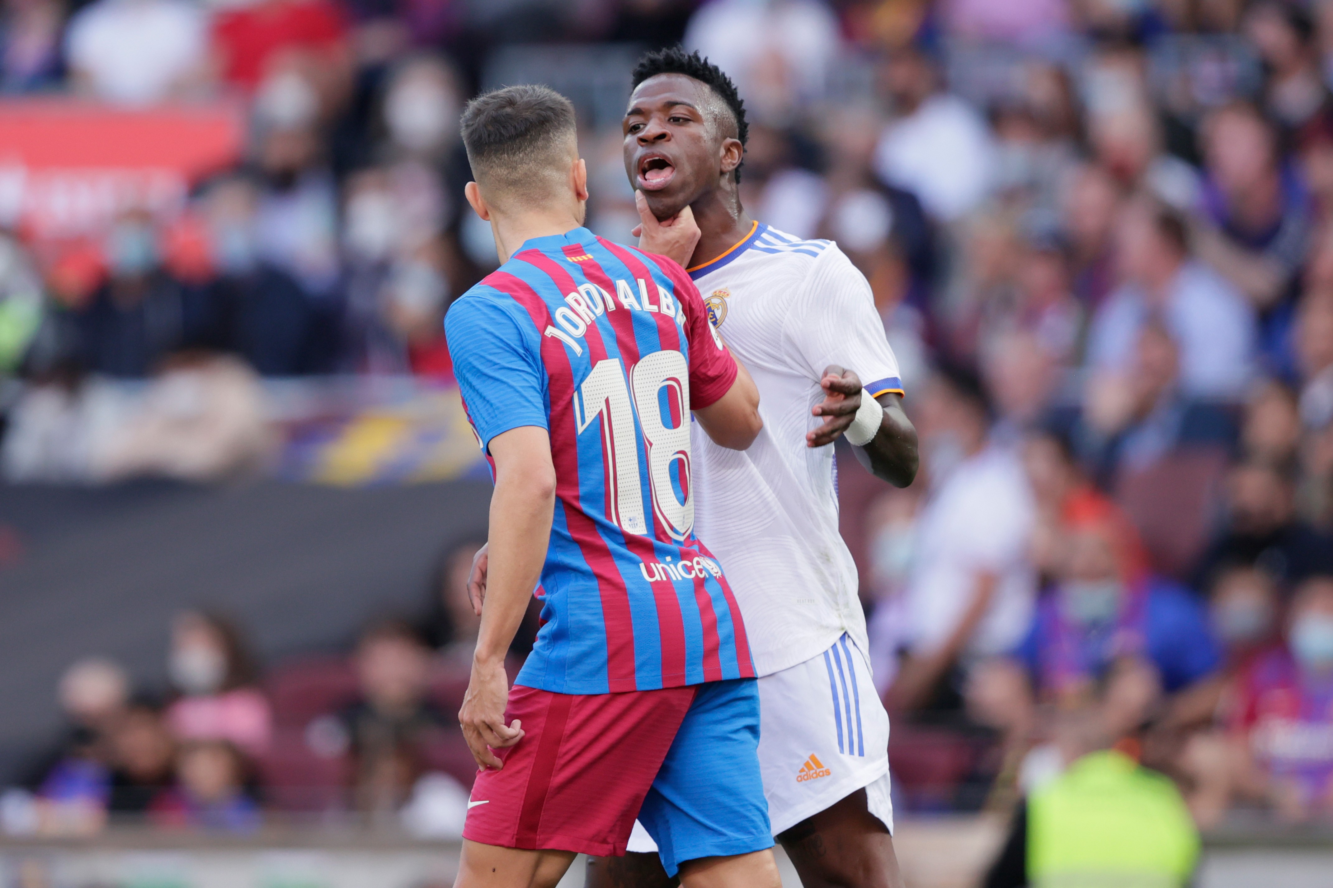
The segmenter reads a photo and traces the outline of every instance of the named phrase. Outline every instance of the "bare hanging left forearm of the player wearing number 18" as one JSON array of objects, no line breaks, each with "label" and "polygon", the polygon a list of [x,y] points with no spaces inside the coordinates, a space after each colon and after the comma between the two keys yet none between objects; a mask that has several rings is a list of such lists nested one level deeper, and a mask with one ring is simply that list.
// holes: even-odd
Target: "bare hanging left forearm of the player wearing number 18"
[{"label": "bare hanging left forearm of the player wearing number 18", "polygon": [[497,473],[491,497],[489,570],[476,659],[503,662],[513,642],[551,539],[555,487],[515,470]]}]

